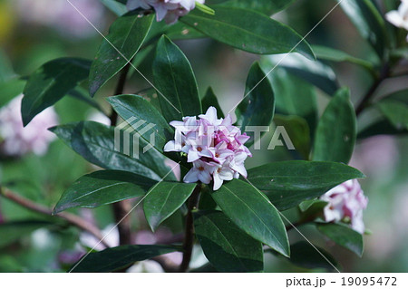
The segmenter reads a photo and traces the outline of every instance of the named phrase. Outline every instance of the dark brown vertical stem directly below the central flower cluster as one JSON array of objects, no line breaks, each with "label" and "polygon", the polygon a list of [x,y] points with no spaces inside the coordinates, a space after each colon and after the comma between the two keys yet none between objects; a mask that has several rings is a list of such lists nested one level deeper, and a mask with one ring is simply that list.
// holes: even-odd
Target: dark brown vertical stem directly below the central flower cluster
[{"label": "dark brown vertical stem directly below the central flower cluster", "polygon": [[179,272],[186,272],[189,269],[189,261],[191,261],[192,248],[194,245],[194,224],[192,210],[197,208],[199,202],[199,192],[201,184],[194,188],[193,193],[189,197],[188,213],[186,217],[186,229],[183,243],[183,260],[181,262]]}]

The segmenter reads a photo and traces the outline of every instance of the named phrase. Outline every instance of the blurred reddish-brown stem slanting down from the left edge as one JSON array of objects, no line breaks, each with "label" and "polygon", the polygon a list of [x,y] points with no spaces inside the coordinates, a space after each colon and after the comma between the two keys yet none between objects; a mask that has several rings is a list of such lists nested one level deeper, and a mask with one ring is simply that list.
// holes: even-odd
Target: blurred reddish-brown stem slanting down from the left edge
[{"label": "blurred reddish-brown stem slanting down from the left edge", "polygon": [[[0,188],[0,193],[3,197],[8,198],[9,200],[15,202],[16,204],[22,207],[26,207],[34,212],[37,212],[37,213],[40,213],[46,216],[53,215],[52,209],[36,204],[33,201],[25,197],[21,197],[7,188]],[[109,247],[109,245],[103,240],[104,236],[102,235],[101,231],[96,226],[93,226],[91,223],[85,221],[82,217],[78,217],[76,215],[73,215],[67,212],[58,213],[58,214],[55,214],[54,216],[61,217],[64,220],[68,221],[68,223],[72,224],[73,226],[77,226],[80,229],[83,229],[84,231],[92,234],[92,236],[95,236],[98,240],[101,240],[101,243],[104,246]]]}]

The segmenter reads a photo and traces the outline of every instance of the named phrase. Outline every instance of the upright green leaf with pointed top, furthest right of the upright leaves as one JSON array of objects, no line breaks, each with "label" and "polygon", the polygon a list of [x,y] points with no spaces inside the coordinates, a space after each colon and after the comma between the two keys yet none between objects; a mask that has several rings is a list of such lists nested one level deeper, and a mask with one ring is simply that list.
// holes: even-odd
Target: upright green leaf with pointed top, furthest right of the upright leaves
[{"label": "upright green leaf with pointed top, furthest right of the upright leaves", "polygon": [[348,89],[341,89],[327,105],[316,130],[313,160],[345,164],[355,149],[355,109]]}]

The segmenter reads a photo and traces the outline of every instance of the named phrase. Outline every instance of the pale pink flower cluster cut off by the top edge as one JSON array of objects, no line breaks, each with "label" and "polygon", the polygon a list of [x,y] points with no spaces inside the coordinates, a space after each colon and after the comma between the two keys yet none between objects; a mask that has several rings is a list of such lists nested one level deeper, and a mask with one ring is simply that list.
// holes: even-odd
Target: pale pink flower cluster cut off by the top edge
[{"label": "pale pink flower cluster cut off by the top edge", "polygon": [[196,7],[196,2],[204,4],[205,0],[128,0],[129,10],[137,8],[154,9],[157,21],[165,20],[167,24],[176,23],[180,16],[188,14]]}]

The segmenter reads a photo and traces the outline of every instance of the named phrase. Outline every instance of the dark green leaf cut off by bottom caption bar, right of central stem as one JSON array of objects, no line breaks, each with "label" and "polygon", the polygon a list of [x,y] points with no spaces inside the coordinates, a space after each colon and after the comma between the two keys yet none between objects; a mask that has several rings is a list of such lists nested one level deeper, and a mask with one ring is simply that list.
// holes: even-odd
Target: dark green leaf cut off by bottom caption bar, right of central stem
[{"label": "dark green leaf cut off by bottom caption bar, right of central stem", "polygon": [[260,272],[262,244],[241,231],[222,212],[194,213],[194,230],[209,263],[219,272]]}]

